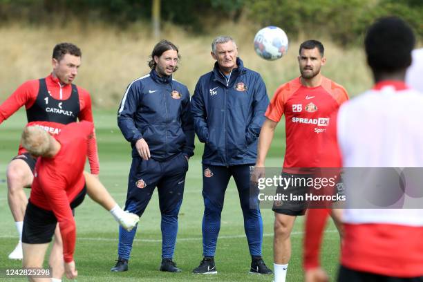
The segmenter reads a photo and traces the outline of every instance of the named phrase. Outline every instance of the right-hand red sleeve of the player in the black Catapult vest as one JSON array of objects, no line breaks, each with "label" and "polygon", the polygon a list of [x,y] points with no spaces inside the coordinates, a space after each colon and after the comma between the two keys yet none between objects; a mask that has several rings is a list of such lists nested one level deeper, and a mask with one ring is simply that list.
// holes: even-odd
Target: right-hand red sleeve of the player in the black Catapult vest
[{"label": "right-hand red sleeve of the player in the black Catapult vest", "polygon": [[[93,110],[91,107],[91,97],[88,91],[78,87],[79,104],[81,111],[79,111],[79,121],[86,120],[93,122]],[[100,162],[98,160],[97,140],[95,138],[95,131],[93,130],[93,138],[88,139],[88,162],[90,163],[91,174],[100,173]]]}]

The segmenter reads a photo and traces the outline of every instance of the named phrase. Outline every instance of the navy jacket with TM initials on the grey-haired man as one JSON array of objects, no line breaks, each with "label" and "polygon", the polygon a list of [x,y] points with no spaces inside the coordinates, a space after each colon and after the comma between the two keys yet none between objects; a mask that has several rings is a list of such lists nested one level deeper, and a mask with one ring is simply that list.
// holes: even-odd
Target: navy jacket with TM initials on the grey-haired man
[{"label": "navy jacket with TM initials on the grey-haired man", "polygon": [[236,59],[229,81],[218,64],[196,85],[191,97],[194,129],[205,142],[203,164],[255,164],[257,139],[269,104],[263,79]]}]

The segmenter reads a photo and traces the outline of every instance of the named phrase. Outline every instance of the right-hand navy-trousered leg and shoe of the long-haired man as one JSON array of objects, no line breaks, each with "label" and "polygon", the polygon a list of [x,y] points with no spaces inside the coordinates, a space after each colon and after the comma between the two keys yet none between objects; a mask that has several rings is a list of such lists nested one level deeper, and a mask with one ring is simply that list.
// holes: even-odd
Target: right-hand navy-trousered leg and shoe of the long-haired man
[{"label": "right-hand navy-trousered leg and shoe of the long-haired man", "polygon": [[161,271],[180,272],[173,262],[176,236],[178,234],[178,214],[184,196],[185,175],[188,161],[179,154],[163,162],[163,176],[158,182],[160,212],[162,214],[162,265]]}]

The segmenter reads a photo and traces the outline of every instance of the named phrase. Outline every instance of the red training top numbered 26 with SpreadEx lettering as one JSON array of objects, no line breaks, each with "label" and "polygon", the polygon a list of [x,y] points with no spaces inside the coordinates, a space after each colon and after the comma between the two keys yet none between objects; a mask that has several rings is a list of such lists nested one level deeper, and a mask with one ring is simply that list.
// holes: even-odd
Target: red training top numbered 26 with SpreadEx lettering
[{"label": "red training top numbered 26 with SpreadEx lettering", "polygon": [[303,86],[299,77],[279,86],[265,116],[279,122],[285,113],[283,171],[303,173],[306,171],[300,168],[318,166],[317,156],[330,123],[330,114],[346,100],[346,90],[323,76],[317,87]]}]

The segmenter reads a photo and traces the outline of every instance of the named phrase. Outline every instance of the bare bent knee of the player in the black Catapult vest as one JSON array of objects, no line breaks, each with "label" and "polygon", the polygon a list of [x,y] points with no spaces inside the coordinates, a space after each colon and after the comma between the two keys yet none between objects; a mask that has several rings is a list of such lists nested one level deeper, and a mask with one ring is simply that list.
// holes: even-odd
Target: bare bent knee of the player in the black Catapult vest
[{"label": "bare bent knee of the player in the black Catapult vest", "polygon": [[23,160],[12,160],[8,165],[6,176],[10,193],[19,191],[23,187],[30,187],[32,184],[32,171]]}]

